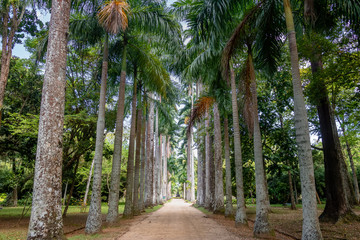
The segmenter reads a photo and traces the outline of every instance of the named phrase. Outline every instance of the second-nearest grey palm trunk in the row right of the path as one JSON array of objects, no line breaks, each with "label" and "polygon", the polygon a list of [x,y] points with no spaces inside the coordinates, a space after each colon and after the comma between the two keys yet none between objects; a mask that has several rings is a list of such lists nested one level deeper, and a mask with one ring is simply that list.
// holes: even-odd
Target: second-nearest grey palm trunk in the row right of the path
[{"label": "second-nearest grey palm trunk in the row right of the path", "polygon": [[264,158],[262,154],[261,132],[259,125],[257,91],[255,69],[252,61],[251,48],[249,47],[248,64],[250,69],[250,88],[252,94],[252,111],[254,120],[254,158],[255,158],[255,182],[256,182],[256,219],[254,223],[254,235],[256,237],[274,235],[274,230],[269,223],[269,197],[266,186]]}]

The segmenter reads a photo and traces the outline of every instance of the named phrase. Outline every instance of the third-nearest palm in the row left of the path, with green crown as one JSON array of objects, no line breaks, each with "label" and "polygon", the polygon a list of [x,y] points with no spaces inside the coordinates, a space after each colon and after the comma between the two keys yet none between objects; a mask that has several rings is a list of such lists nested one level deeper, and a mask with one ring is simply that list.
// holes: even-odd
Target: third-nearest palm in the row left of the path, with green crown
[{"label": "third-nearest palm in the row left of the path, with green crown", "polygon": [[[121,64],[121,77],[119,85],[119,97],[118,97],[118,110],[116,116],[116,131],[115,131],[115,147],[114,148],[114,160],[116,163],[116,168],[113,166],[113,174],[111,177],[111,190],[109,194],[109,214],[107,217],[108,222],[113,222],[118,216],[118,201],[119,201],[119,177],[120,177],[120,159],[121,159],[121,146],[122,146],[122,128],[123,128],[123,118],[124,118],[124,104],[125,104],[125,80],[127,74],[127,65],[126,61],[131,58],[131,56],[141,53],[142,61],[151,62],[154,61],[151,54],[146,55],[148,49],[143,49],[143,41],[137,39],[139,32],[142,34],[148,34],[151,37],[146,41],[151,42],[154,35],[164,36],[164,40],[159,41],[164,43],[164,41],[175,42],[177,38],[174,36],[173,32],[176,32],[177,26],[173,23],[172,19],[168,17],[166,12],[157,6],[152,6],[149,2],[140,2],[140,1],[130,1],[132,5],[131,14],[129,16],[129,27],[127,31],[122,32],[122,39],[120,39],[116,46],[122,47],[122,64]],[[172,36],[173,38],[170,39]],[[169,40],[170,39],[170,40]],[[176,44],[174,44],[176,45]],[[115,49],[116,50],[116,49]],[[144,55],[145,54],[145,55]],[[159,70],[152,65],[148,65],[149,74],[152,76],[158,74],[163,70]],[[142,66],[139,64],[139,66]],[[161,87],[161,85],[159,86]],[[117,140],[118,139],[118,140]],[[114,163],[113,163],[114,164]]]}]

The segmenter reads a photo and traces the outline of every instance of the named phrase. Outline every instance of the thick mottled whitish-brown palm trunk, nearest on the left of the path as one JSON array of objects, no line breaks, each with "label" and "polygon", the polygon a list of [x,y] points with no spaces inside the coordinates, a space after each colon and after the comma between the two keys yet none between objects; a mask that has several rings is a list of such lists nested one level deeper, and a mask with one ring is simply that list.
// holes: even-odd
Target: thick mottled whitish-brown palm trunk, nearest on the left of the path
[{"label": "thick mottled whitish-brown palm trunk, nearest on the left of the path", "polygon": [[27,239],[61,239],[62,143],[70,1],[52,1]]}]

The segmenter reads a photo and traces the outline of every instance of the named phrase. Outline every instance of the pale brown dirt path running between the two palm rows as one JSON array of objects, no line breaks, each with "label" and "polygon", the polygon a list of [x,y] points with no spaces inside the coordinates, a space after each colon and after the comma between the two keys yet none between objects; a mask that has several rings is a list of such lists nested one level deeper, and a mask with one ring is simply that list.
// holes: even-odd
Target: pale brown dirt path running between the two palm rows
[{"label": "pale brown dirt path running between the two palm rows", "polygon": [[190,205],[182,199],[173,199],[148,218],[132,225],[127,233],[117,239],[242,239]]}]

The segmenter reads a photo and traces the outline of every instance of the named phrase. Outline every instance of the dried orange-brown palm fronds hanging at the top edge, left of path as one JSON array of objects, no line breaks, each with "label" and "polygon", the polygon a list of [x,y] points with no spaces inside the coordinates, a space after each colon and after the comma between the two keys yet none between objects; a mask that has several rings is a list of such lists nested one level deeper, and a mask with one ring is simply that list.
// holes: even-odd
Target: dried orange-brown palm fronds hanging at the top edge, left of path
[{"label": "dried orange-brown palm fronds hanging at the top edge, left of path", "polygon": [[103,4],[97,16],[100,24],[111,34],[125,30],[128,26],[129,4],[124,0],[111,0]]}]

